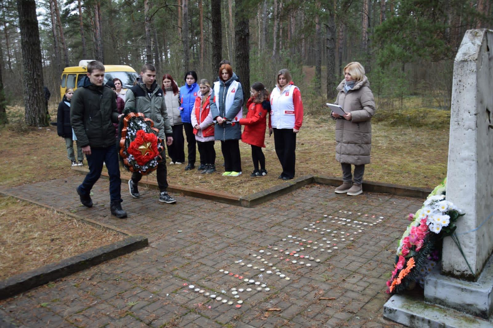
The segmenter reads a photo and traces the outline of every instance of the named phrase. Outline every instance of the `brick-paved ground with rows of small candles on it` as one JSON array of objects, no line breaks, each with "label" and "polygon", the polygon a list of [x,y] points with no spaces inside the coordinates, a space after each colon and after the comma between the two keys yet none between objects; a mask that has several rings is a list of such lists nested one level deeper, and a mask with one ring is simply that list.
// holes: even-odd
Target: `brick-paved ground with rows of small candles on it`
[{"label": "brick-paved ground with rows of small candles on it", "polygon": [[423,199],[309,185],[244,208],[180,195],[165,204],[142,188],[133,199],[122,184],[129,217],[118,220],[108,181],[95,185],[93,208],[78,201],[81,181],[8,192],[146,235],[149,246],[1,301],[13,327],[402,327],[382,317],[385,282]]}]

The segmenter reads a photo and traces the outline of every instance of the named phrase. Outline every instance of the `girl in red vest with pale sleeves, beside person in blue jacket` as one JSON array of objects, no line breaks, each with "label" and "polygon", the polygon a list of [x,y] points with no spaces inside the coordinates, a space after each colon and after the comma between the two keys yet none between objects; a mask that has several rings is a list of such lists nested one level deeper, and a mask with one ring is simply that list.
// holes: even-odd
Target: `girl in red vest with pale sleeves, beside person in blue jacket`
[{"label": "girl in red vest with pale sleeves, beside person in blue jacket", "polygon": [[195,98],[191,120],[193,133],[195,133],[199,147],[200,163],[204,163],[206,166],[201,173],[210,174],[215,172],[214,121],[210,108],[211,83],[202,79],[199,88],[200,93]]}]

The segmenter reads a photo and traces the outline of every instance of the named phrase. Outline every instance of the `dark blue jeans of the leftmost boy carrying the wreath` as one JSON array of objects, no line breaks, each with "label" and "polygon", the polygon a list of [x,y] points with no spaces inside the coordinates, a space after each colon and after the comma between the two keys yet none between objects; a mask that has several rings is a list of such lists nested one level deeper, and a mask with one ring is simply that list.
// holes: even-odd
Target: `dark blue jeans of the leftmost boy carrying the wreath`
[{"label": "dark blue jeans of the leftmost boy carrying the wreath", "polygon": [[89,196],[91,189],[98,181],[103,170],[103,162],[106,163],[109,175],[109,199],[110,202],[122,202],[120,189],[120,167],[118,166],[118,154],[116,146],[106,148],[91,148],[91,155],[86,155],[89,173],[78,187],[79,192],[84,196]]}]

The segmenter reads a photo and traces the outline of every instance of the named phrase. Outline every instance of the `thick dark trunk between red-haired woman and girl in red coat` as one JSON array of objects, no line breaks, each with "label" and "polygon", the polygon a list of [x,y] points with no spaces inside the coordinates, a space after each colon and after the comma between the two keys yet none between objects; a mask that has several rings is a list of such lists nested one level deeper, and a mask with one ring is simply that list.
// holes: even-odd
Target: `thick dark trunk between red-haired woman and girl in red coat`
[{"label": "thick dark trunk between red-haired woman and girl in red coat", "polygon": [[235,8],[235,49],[236,71],[240,75],[243,88],[243,103],[250,98],[250,32],[248,16],[244,10],[245,0],[236,0]]}]

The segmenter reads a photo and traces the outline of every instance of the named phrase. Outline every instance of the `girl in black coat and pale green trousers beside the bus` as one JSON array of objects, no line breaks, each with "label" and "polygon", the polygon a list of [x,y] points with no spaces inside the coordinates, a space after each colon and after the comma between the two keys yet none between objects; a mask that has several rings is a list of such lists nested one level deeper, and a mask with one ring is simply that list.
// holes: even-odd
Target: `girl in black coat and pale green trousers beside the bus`
[{"label": "girl in black coat and pale green trousers beside the bus", "polygon": [[70,99],[73,95],[73,89],[67,89],[63,100],[58,104],[57,111],[57,131],[58,135],[65,139],[65,144],[67,146],[67,157],[72,162],[72,166],[82,165],[82,160],[84,159],[84,154],[82,153],[82,148],[77,145],[77,161],[75,162],[75,154],[73,152],[73,140],[75,134],[72,131],[70,125]]}]

